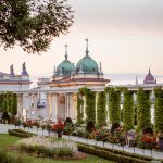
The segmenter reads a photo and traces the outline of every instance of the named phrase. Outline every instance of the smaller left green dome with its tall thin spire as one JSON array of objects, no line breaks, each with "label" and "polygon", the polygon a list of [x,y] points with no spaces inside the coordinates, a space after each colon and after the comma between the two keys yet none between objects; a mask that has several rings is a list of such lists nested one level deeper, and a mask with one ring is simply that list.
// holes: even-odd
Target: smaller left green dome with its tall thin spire
[{"label": "smaller left green dome with its tall thin spire", "polygon": [[65,45],[65,60],[58,65],[54,76],[68,76],[74,70],[74,64],[67,60],[67,45]]}]

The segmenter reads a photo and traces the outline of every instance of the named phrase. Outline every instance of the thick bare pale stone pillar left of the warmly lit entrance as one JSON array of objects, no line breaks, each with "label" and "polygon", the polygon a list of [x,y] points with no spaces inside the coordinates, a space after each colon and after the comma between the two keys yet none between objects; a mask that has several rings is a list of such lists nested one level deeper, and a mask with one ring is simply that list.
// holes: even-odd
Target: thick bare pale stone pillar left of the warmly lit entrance
[{"label": "thick bare pale stone pillar left of the warmly lit entrance", "polygon": [[58,105],[59,105],[59,95],[52,93],[51,97],[51,109],[52,109],[52,121],[58,122]]}]

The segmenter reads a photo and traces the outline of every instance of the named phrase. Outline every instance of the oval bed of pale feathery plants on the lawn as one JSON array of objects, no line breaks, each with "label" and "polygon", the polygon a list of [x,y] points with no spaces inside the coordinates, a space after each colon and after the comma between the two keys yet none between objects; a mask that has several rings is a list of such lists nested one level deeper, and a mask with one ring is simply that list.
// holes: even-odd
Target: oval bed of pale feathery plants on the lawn
[{"label": "oval bed of pale feathery plants on the lawn", "polygon": [[76,158],[76,153],[78,153],[76,143],[64,139],[32,137],[20,140],[16,147],[20,151],[29,154],[53,159],[74,159]]}]

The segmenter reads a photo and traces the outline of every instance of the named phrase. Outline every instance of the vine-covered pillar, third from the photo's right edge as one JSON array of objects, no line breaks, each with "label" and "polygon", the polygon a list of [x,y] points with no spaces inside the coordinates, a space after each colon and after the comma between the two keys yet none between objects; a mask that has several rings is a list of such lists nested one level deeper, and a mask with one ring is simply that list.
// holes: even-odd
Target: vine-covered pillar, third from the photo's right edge
[{"label": "vine-covered pillar, third from the photo's right edge", "polygon": [[123,123],[125,130],[134,128],[134,99],[133,92],[128,90],[124,92]]}]

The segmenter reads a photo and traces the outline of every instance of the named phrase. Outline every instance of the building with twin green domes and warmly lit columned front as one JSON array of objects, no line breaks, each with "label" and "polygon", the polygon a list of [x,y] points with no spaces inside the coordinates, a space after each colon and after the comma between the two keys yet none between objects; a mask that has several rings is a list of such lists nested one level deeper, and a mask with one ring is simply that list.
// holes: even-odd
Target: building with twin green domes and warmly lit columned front
[{"label": "building with twin green domes and warmly lit columned front", "polygon": [[[104,87],[110,80],[104,78],[101,63],[98,63],[90,57],[88,49],[88,39],[86,39],[86,53],[73,64],[68,60],[67,45],[65,45],[64,60],[54,66],[53,75],[50,80],[42,78],[38,80],[38,88],[49,90],[62,90],[46,95],[48,117],[53,121],[65,120],[67,116],[76,118],[76,98],[77,89],[80,87]],[[73,91],[72,89],[76,90]],[[70,91],[64,92],[64,89]]]}]

